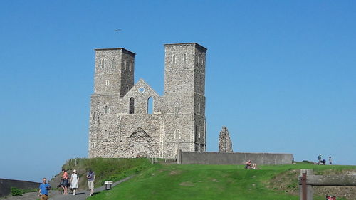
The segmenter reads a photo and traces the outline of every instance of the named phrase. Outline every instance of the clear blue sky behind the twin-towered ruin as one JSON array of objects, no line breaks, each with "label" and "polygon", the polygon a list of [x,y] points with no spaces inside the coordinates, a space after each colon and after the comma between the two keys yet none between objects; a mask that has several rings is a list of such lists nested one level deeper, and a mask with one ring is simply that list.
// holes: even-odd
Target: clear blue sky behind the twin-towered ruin
[{"label": "clear blue sky behind the twin-towered ruin", "polygon": [[[0,1],[0,177],[88,156],[94,48],[137,53],[162,95],[164,43],[206,56],[207,149],[356,164],[355,1]],[[122,31],[114,30],[121,28]]]}]

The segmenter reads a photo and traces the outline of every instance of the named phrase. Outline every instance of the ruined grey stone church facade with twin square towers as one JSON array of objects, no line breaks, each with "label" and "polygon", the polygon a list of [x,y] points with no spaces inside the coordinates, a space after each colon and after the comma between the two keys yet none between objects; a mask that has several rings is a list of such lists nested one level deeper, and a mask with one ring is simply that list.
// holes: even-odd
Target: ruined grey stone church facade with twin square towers
[{"label": "ruined grey stone church facade with twin square towers", "polygon": [[95,49],[89,157],[175,158],[206,150],[205,55],[197,43],[164,45],[164,95],[134,84],[135,53]]}]

